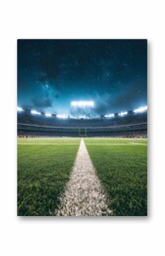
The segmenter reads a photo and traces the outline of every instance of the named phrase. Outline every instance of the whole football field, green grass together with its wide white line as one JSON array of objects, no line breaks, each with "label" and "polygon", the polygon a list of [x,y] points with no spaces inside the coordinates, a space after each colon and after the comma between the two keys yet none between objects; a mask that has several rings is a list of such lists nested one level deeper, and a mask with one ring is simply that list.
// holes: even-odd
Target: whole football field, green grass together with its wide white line
[{"label": "whole football field, green grass together with its wide white line", "polygon": [[[77,153],[81,148],[84,155]],[[89,165],[94,170],[88,169]],[[101,212],[97,207],[100,200],[109,211]],[[146,216],[147,139],[19,138],[18,216],[63,215],[63,210],[57,210],[64,202],[68,208],[72,204],[74,213],[80,202],[84,204],[79,211],[82,215],[90,215],[87,208],[95,205],[91,215]],[[67,209],[67,216],[70,215],[74,215],[73,211]]]}]

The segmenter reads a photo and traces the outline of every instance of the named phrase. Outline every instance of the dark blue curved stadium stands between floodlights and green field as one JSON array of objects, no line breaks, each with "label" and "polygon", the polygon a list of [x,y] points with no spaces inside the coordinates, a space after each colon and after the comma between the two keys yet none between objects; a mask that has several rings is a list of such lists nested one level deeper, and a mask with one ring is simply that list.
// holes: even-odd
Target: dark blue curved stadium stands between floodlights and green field
[{"label": "dark blue curved stadium stands between floodlights and green field", "polygon": [[18,136],[147,137],[147,112],[98,119],[59,119],[18,112]]}]

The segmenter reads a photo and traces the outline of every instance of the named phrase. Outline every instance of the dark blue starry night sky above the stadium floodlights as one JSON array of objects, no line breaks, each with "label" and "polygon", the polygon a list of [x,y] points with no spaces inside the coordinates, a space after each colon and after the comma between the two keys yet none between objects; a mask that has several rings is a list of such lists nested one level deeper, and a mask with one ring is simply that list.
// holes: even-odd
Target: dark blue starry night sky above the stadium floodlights
[{"label": "dark blue starry night sky above the stadium floodlights", "polygon": [[97,115],[147,104],[147,40],[18,40],[18,105],[69,113],[93,100]]}]

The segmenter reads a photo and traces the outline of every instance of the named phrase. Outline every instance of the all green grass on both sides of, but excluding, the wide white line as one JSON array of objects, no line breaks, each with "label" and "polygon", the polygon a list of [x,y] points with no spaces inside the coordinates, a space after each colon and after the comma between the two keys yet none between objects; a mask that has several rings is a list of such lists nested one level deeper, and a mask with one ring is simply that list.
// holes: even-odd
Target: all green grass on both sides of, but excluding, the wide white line
[{"label": "all green grass on both sides of, but excluding, the wide white line", "polygon": [[[146,216],[147,139],[84,140],[114,214]],[[79,138],[18,139],[18,216],[55,214],[79,143]]]}]

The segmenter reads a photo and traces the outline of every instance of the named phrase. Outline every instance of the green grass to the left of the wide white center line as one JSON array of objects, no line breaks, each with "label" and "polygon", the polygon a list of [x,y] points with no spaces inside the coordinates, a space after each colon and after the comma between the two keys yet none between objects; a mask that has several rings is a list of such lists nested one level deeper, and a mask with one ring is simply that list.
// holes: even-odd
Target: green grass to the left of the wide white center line
[{"label": "green grass to the left of the wide white center line", "polygon": [[[36,139],[18,139],[18,143],[28,141]],[[62,141],[72,143],[73,140]],[[55,214],[78,148],[79,144],[18,145],[18,216]]]}]

